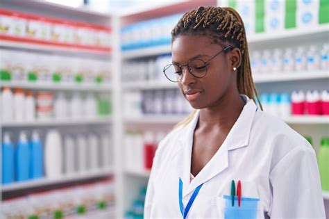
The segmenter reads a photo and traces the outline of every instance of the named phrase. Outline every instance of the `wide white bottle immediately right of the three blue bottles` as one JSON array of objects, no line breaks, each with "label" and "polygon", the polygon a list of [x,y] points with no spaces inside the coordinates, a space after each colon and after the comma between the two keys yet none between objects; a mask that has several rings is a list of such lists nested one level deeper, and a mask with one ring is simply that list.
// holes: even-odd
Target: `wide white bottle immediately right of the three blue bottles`
[{"label": "wide white bottle immediately right of the three blue bottles", "polygon": [[62,140],[56,129],[48,131],[44,144],[44,171],[48,179],[62,177]]}]

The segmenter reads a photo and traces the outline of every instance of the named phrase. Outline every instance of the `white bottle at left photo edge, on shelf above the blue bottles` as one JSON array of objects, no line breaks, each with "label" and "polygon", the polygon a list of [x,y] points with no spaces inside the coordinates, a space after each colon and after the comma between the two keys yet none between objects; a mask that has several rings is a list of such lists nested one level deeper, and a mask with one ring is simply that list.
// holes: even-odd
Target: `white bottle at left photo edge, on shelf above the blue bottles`
[{"label": "white bottle at left photo edge, on shelf above the blue bottles", "polygon": [[14,97],[10,88],[3,87],[1,96],[1,121],[12,122],[14,120]]}]

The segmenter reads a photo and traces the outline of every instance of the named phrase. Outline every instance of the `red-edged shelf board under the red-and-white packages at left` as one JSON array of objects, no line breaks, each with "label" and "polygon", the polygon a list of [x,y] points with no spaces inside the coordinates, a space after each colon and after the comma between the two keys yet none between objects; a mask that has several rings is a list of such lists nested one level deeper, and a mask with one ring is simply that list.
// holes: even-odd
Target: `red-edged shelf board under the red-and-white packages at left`
[{"label": "red-edged shelf board under the red-and-white packages at left", "polygon": [[74,44],[64,44],[57,42],[47,42],[45,40],[32,40],[27,38],[18,38],[0,34],[0,47],[15,49],[31,49],[36,51],[62,52],[76,54],[98,54],[110,55],[110,47],[91,47]]}]

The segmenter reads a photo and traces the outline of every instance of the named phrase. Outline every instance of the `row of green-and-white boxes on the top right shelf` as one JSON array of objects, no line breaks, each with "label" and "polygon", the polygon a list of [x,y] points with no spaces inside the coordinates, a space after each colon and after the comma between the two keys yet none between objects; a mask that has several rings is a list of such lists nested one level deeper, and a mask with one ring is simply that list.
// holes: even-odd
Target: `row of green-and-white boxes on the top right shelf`
[{"label": "row of green-and-white boxes on the top right shelf", "polygon": [[244,21],[247,34],[276,33],[285,29],[314,28],[328,23],[327,1],[277,1],[269,0],[259,6],[256,0],[223,0],[220,6],[235,8]]}]

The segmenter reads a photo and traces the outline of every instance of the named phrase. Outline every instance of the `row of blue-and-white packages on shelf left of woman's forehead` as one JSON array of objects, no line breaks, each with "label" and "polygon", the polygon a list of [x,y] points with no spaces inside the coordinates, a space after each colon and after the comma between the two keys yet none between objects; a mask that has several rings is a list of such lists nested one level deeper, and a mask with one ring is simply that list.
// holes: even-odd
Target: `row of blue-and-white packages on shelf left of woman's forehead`
[{"label": "row of blue-and-white packages on shelf left of woman's forehead", "polygon": [[182,15],[171,15],[124,26],[121,29],[121,49],[140,49],[170,44],[171,30]]}]

